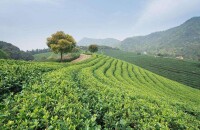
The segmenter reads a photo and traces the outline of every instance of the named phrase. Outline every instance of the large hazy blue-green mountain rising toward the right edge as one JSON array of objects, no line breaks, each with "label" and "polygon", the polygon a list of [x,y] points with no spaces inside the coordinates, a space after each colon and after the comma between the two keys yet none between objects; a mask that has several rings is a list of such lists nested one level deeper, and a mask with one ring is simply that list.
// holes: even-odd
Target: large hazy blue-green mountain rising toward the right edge
[{"label": "large hazy blue-green mountain rising toward the right edge", "polygon": [[146,36],[130,37],[121,42],[121,49],[170,56],[200,57],[200,17],[182,25]]}]

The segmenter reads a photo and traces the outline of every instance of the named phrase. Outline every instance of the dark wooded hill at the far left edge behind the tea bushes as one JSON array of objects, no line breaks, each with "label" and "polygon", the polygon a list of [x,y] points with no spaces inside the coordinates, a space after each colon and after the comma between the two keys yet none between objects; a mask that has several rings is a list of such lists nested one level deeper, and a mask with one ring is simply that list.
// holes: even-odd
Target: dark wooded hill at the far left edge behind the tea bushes
[{"label": "dark wooded hill at the far left edge behind the tea bushes", "polygon": [[34,57],[11,43],[0,41],[0,59],[33,60]]}]

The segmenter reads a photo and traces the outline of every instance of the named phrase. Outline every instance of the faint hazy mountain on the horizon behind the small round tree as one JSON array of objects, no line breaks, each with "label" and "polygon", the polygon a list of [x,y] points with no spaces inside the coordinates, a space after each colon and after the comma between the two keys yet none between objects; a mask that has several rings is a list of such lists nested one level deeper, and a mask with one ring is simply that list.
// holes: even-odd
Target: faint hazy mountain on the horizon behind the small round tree
[{"label": "faint hazy mountain on the horizon behind the small round tree", "polygon": [[90,44],[119,47],[120,41],[114,38],[106,38],[106,39],[83,38],[77,43],[78,46],[89,46]]}]

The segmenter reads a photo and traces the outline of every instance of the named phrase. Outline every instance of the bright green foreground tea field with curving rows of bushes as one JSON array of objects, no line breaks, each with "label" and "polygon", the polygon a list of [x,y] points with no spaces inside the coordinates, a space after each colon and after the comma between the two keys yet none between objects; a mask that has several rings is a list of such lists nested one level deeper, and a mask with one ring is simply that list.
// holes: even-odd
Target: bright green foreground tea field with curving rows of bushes
[{"label": "bright green foreground tea field with curving rows of bushes", "polygon": [[9,87],[17,86],[5,77],[16,70],[15,79],[23,77],[18,83],[22,91],[1,102],[0,129],[177,130],[200,125],[199,90],[125,61],[93,55],[76,64],[0,64],[0,81]]}]

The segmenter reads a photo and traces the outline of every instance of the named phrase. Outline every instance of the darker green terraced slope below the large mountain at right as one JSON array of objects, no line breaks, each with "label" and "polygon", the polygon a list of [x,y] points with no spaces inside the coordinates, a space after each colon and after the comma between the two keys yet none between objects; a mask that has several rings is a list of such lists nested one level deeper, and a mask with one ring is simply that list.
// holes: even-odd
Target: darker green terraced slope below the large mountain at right
[{"label": "darker green terraced slope below the large mountain at right", "polygon": [[104,54],[136,64],[171,80],[200,89],[199,62],[137,55],[120,50],[104,50]]}]

